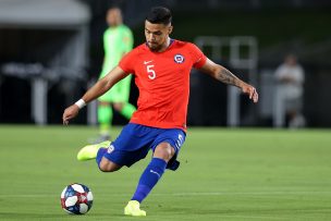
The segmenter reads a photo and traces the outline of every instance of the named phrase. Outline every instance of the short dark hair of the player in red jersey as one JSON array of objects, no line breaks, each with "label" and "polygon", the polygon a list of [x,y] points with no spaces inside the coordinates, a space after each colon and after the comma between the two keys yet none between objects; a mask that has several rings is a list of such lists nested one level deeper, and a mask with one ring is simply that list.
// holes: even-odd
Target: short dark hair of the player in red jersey
[{"label": "short dark hair of the player in red jersey", "polygon": [[169,25],[172,20],[171,11],[164,7],[151,8],[146,20],[152,24]]}]

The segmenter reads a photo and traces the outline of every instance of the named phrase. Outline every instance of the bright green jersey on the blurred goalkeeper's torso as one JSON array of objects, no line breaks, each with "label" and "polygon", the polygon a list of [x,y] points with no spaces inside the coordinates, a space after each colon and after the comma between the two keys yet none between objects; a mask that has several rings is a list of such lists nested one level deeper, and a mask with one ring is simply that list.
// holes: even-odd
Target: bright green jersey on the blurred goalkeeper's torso
[{"label": "bright green jersey on the blurred goalkeeper's torso", "polygon": [[121,58],[133,48],[133,34],[125,25],[109,27],[103,34],[105,60],[100,77],[103,77]]}]

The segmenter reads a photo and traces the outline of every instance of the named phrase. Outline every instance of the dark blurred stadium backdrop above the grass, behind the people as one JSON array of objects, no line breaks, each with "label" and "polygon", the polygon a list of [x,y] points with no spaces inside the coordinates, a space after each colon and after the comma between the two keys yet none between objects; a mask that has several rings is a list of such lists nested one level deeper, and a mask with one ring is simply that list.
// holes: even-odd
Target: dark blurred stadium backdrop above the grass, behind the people
[{"label": "dark blurred stadium backdrop above the grass, behind the people", "polygon": [[[257,86],[258,106],[204,75],[192,74],[189,125],[274,126],[272,74],[289,52],[305,69],[304,115],[331,126],[331,2],[328,0],[0,0],[0,123],[61,124],[63,109],[96,81],[102,63],[105,14],[124,12],[135,45],[152,5],[174,15],[173,38]],[[132,85],[131,100],[137,89]],[[96,124],[96,103],[76,124]],[[125,120],[115,115],[115,124]]]}]

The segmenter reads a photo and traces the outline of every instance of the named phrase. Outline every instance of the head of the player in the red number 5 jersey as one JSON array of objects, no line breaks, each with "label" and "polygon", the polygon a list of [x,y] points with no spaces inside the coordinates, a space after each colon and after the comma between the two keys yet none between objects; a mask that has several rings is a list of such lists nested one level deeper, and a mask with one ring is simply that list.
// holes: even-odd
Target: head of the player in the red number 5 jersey
[{"label": "head of the player in the red number 5 jersey", "polygon": [[150,10],[145,21],[145,37],[150,50],[160,51],[167,47],[172,32],[171,20],[171,12],[167,8],[156,7]]}]

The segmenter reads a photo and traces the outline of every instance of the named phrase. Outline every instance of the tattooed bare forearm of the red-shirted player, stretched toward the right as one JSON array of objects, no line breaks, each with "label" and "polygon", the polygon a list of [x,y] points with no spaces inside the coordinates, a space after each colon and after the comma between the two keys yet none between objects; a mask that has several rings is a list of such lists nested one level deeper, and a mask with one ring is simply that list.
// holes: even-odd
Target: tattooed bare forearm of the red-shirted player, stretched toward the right
[{"label": "tattooed bare forearm of the red-shirted player, stretched toward the right", "polygon": [[254,102],[258,101],[258,93],[256,88],[240,79],[224,66],[207,59],[206,63],[199,70],[212,76],[217,81],[241,88],[244,94],[247,94],[249,96],[249,99],[252,99]]}]

